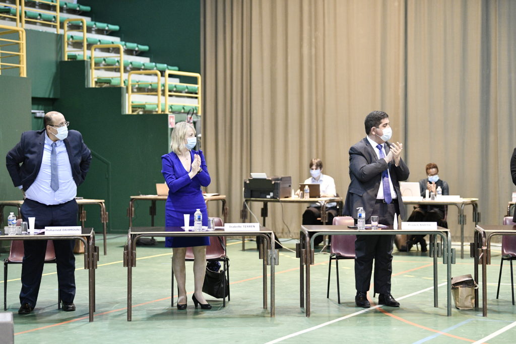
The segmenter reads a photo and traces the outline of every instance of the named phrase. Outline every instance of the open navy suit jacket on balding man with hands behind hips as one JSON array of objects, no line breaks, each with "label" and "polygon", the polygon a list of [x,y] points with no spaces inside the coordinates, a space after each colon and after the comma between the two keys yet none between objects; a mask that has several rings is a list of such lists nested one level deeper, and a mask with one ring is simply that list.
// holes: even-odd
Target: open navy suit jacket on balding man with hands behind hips
[{"label": "open navy suit jacket on balding man with hands behind hips", "polygon": [[[89,170],[91,152],[77,130],[69,130],[68,137],[63,142],[70,159],[73,180],[79,186]],[[41,168],[44,143],[45,129],[30,130],[22,133],[20,142],[7,153],[6,166],[14,186],[22,185],[26,191],[34,183]]]}]

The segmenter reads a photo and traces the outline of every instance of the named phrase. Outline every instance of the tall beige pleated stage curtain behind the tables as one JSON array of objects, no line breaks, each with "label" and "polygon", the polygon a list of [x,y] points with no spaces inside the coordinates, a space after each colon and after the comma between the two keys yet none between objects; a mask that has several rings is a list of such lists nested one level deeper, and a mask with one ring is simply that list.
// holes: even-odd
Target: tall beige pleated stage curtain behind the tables
[{"label": "tall beige pleated stage curtain behind the tables", "polygon": [[[483,223],[499,223],[515,143],[512,2],[201,4],[208,191],[227,195],[230,221],[240,221],[250,172],[290,175],[297,188],[313,157],[345,196],[349,146],[381,109],[405,144],[410,181],[434,161],[452,193],[481,198]],[[302,211],[271,204],[267,226],[297,237]]]}]

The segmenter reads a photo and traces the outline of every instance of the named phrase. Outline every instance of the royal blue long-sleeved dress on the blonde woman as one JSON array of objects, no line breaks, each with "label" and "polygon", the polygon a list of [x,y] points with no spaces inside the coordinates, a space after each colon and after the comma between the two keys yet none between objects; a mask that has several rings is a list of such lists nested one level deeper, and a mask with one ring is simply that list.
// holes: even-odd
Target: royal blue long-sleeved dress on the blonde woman
[{"label": "royal blue long-sleeved dress on the blonde woman", "polygon": [[[162,156],[162,173],[169,188],[165,205],[165,226],[167,227],[184,226],[183,214],[190,214],[190,226],[193,226],[193,213],[197,209],[202,212],[202,225],[208,224],[208,211],[201,186],[208,186],[211,178],[202,151],[191,150],[191,161],[193,161],[194,154],[199,154],[201,157],[202,171],[192,179],[188,176],[190,171],[185,170],[181,160],[174,152]],[[166,237],[165,239],[165,247],[205,245],[209,245],[209,237]]]}]

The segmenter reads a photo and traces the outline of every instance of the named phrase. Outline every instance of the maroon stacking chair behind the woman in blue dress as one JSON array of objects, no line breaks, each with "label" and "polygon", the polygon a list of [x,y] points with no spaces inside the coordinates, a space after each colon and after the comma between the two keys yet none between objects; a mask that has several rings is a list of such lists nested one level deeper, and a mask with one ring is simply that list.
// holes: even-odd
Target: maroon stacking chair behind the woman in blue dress
[{"label": "maroon stacking chair behind the woman in blue dress", "polygon": [[[224,224],[222,219],[214,218],[215,226],[221,227]],[[209,237],[209,245],[206,246],[206,260],[207,261],[221,261],[223,263],[222,269],[226,275],[226,279],[229,283],[229,258],[226,255],[225,249],[225,237]],[[193,261],[193,251],[189,247],[186,249],[185,261]],[[225,282],[225,280],[224,280]],[[230,301],[230,290],[229,284],[224,285],[224,288],[228,288],[228,301]],[[174,267],[172,266],[172,293],[171,293],[171,305],[174,306]],[[222,300],[222,307],[225,307],[225,298]]]}]

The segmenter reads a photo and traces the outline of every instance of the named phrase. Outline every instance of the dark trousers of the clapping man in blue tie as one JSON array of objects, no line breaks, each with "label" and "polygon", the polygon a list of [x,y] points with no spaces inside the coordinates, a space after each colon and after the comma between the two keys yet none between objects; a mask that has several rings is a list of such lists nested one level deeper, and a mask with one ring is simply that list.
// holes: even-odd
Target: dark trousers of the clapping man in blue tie
[{"label": "dark trousers of the clapping man in blue tie", "polygon": [[[391,204],[383,200],[375,203],[373,214],[378,215],[378,223],[392,225],[394,213],[399,214],[397,200]],[[366,223],[370,222],[366,219]],[[394,235],[357,235],[355,241],[355,287],[357,291],[368,291],[375,260],[374,292],[391,292],[392,250]]]}]

